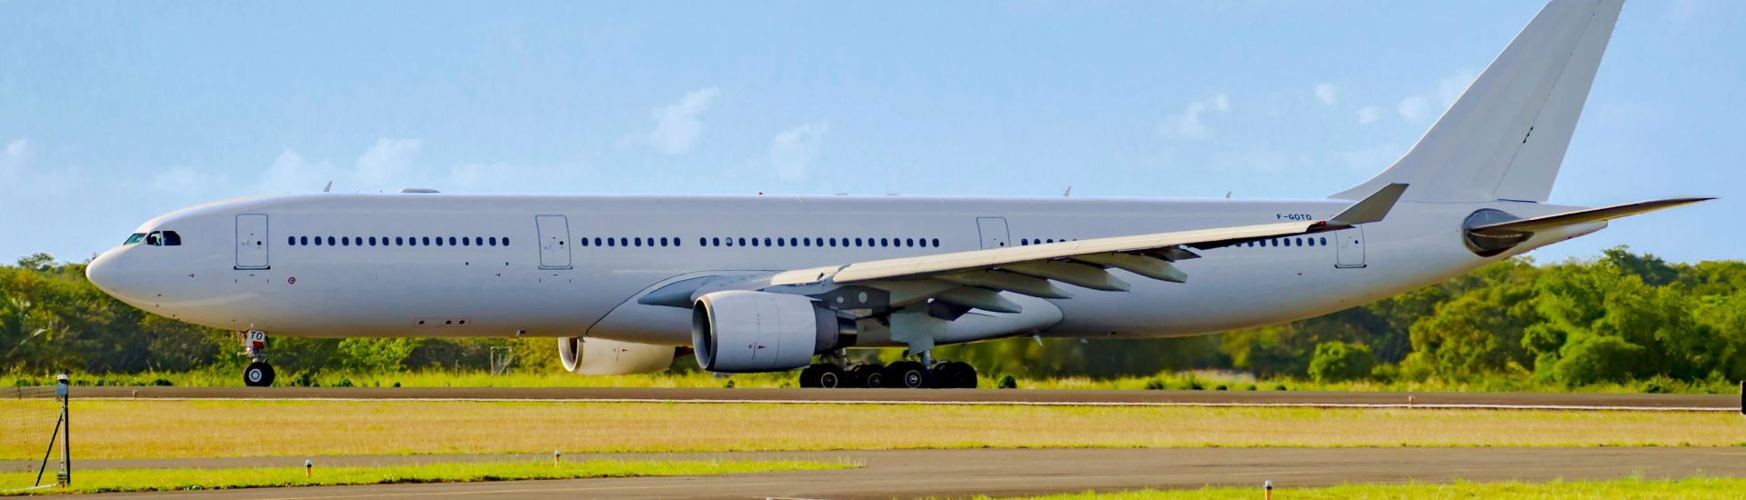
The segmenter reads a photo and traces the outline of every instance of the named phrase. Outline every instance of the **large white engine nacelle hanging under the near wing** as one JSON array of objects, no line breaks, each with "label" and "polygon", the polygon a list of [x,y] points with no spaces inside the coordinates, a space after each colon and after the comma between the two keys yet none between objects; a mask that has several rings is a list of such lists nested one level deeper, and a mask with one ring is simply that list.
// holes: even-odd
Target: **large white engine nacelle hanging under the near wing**
[{"label": "large white engine nacelle hanging under the near wing", "polygon": [[770,372],[854,343],[854,322],[791,294],[723,290],[691,306],[697,365],[712,372]]}]

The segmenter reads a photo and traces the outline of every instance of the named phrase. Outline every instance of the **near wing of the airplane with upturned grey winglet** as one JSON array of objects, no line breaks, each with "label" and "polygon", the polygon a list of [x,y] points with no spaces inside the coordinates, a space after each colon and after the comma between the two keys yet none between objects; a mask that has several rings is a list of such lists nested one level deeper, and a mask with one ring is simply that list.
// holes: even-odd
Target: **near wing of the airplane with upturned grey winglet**
[{"label": "near wing of the airplane with upturned grey winglet", "polygon": [[[1126,290],[1128,285],[1112,276],[1109,273],[1110,267],[1152,280],[1180,283],[1187,280],[1187,274],[1170,262],[1198,259],[1200,255],[1191,248],[1219,248],[1266,238],[1311,234],[1378,222],[1393,208],[1406,189],[1406,184],[1385,185],[1329,220],[1193,229],[868,260],[777,273],[770,278],[770,285],[873,285],[875,281],[941,280],[960,287],[1065,299],[1069,294],[1051,281],[1095,290]],[[981,292],[971,294],[983,295]],[[999,311],[999,308],[995,309]]]}]

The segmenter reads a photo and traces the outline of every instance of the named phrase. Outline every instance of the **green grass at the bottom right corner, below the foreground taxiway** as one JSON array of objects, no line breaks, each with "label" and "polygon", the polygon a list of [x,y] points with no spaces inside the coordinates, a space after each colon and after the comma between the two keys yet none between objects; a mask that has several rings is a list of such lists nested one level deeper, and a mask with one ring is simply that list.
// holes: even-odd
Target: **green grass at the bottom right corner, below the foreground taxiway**
[{"label": "green grass at the bottom right corner, below the foreground taxiway", "polygon": [[[1275,498],[1741,498],[1746,479],[1688,477],[1680,481],[1552,481],[1552,483],[1453,483],[1453,484],[1343,484],[1329,488],[1276,488]],[[986,498],[986,497],[981,497]],[[1140,490],[1123,493],[1070,493],[1032,497],[1037,500],[1175,500],[1175,498],[1262,498],[1261,484],[1247,488]]]}]

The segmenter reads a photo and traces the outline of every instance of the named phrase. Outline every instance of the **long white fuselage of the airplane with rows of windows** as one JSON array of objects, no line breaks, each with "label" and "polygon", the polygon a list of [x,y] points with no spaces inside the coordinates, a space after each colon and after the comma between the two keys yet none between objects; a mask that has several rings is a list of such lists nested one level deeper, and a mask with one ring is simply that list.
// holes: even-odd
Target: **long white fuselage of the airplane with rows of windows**
[{"label": "long white fuselage of the airplane with rows of windows", "polygon": [[[141,309],[230,330],[302,337],[588,336],[679,346],[691,341],[690,313],[636,299],[688,276],[1294,217],[1323,220],[1348,205],[1339,199],[297,194],[162,215],[138,233],[176,231],[182,245],[117,247],[93,260],[89,274],[105,292]],[[1198,250],[1203,259],[1177,262],[1189,274],[1187,283],[1116,271],[1131,278],[1130,292],[1070,288],[1072,299],[1049,301],[1060,318],[1046,327],[943,343],[1018,334],[1193,336],[1290,322],[1425,287],[1605,227],[1542,233],[1503,255],[1477,257],[1463,247],[1461,220],[1479,208],[1517,217],[1566,210],[1512,201],[1400,203],[1383,222],[1299,236],[1313,245]],[[328,238],[346,245],[328,245]],[[410,238],[416,247],[407,245]],[[433,241],[426,243],[428,238]],[[450,238],[471,241],[450,245]],[[904,245],[868,245],[892,240]],[[892,343],[878,337],[861,343],[880,344]]]}]

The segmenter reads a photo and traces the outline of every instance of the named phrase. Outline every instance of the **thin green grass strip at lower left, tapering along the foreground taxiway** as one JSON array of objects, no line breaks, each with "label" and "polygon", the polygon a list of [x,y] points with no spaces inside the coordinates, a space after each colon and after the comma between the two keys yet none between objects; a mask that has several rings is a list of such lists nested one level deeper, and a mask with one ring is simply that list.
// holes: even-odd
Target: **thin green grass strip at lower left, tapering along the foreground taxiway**
[{"label": "thin green grass strip at lower left, tapering along the foreground taxiway", "polygon": [[[72,488],[44,488],[16,491],[30,486],[37,474],[0,474],[0,495],[44,493],[105,493],[105,491],[178,491],[178,490],[232,490],[269,486],[339,486],[339,484],[393,484],[393,483],[477,483],[520,479],[581,479],[581,477],[643,477],[643,476],[707,476],[737,472],[826,470],[861,467],[849,462],[618,462],[587,460],[566,462],[494,462],[494,463],[426,463],[398,467],[316,467],[309,477],[302,467],[262,469],[94,469],[73,470]],[[54,481],[51,470],[44,477]]]}]

